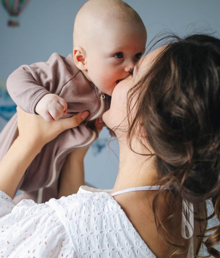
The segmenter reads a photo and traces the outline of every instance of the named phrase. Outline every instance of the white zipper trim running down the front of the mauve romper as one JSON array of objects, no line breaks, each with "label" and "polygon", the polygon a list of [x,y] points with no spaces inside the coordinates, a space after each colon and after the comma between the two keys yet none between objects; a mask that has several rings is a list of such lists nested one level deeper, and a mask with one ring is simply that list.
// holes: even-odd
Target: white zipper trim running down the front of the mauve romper
[{"label": "white zipper trim running down the front of the mauve romper", "polygon": [[[92,118],[90,118],[89,121],[96,119],[102,113],[103,107],[104,107],[104,99],[105,99],[105,95],[104,95],[104,93],[101,93],[101,95],[100,95],[101,104],[100,104],[99,111],[96,113],[96,115],[94,115]],[[89,145],[92,141],[94,141],[95,138],[96,138],[96,132],[92,131],[92,137],[90,138],[90,140],[87,141],[86,143],[82,144],[82,145],[77,146],[76,148],[85,147],[86,145]],[[55,178],[56,178],[56,161],[60,157],[60,155],[62,155],[63,152],[65,152],[65,151],[66,150],[61,151],[60,154],[56,156],[56,158],[54,160],[54,163],[53,163],[52,178],[51,178],[50,182],[45,187],[50,187],[53,184],[53,182],[55,181]],[[42,203],[43,188],[45,188],[45,187],[39,188],[37,203]]]}]

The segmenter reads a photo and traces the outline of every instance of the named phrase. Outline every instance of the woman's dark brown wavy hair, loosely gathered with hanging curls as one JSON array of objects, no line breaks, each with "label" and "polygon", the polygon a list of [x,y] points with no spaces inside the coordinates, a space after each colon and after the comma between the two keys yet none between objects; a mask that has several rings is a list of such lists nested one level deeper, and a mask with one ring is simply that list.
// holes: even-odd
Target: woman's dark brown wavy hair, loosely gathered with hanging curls
[{"label": "woman's dark brown wavy hair, loosely gathered with hanging curls", "polygon": [[[157,204],[164,188],[158,191],[152,204],[157,230],[166,230],[168,237],[163,239],[177,247],[177,255],[186,248],[175,242],[167,225],[182,209],[182,199],[194,207],[211,199],[213,214],[204,217],[194,212],[195,220],[204,222],[215,215],[220,220],[220,39],[207,34],[184,38],[172,34],[162,39],[168,39],[168,44],[128,92],[128,113],[133,99],[137,107],[135,117],[129,119],[128,140],[131,148],[141,123],[146,143],[153,149],[148,158],[154,158],[158,185],[172,189],[177,207],[165,223]],[[214,248],[220,241],[219,225],[211,231],[205,235],[201,230],[197,237],[209,254],[219,258]]]}]

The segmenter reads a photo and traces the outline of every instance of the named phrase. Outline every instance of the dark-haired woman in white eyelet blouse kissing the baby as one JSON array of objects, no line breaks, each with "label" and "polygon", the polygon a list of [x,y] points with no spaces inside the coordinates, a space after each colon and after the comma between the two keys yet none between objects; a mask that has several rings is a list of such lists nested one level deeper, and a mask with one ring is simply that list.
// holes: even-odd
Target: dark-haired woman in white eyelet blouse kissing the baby
[{"label": "dark-haired woman in white eyelet blouse kissing the baby", "polygon": [[[115,87],[103,115],[120,146],[112,190],[80,187],[77,194],[59,200],[22,200],[15,206],[11,198],[34,156],[57,134],[81,122],[73,125],[72,118],[47,124],[18,110],[20,135],[0,163],[3,257],[198,253],[205,239],[206,199],[212,199],[219,219],[220,40],[173,36],[130,73]],[[205,244],[220,257],[214,249],[219,226],[214,230]]]}]

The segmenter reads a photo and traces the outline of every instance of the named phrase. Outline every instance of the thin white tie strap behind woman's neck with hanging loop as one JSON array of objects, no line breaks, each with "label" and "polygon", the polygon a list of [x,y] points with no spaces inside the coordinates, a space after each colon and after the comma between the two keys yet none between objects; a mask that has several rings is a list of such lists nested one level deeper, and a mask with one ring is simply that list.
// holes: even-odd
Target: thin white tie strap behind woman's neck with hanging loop
[{"label": "thin white tie strap behind woman's neck with hanging loop", "polygon": [[[126,192],[133,191],[145,191],[145,190],[159,190],[163,186],[139,186],[127,188],[114,193],[112,196],[116,196]],[[164,190],[170,190],[170,188],[165,188]],[[188,229],[188,236],[186,235],[186,230]],[[194,230],[194,215],[193,215],[193,204],[185,200],[182,200],[182,221],[181,221],[181,235],[183,238],[190,239],[190,245],[187,253],[187,258],[194,257],[194,245],[193,245],[193,230]]]}]

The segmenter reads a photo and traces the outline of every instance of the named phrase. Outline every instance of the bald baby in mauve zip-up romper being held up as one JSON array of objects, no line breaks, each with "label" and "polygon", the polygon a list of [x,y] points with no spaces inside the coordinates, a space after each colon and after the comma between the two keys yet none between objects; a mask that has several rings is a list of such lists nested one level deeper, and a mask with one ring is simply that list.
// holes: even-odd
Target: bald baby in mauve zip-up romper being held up
[{"label": "bald baby in mauve zip-up romper being held up", "polygon": [[[76,15],[73,54],[65,58],[53,53],[47,62],[23,65],[12,72],[8,92],[24,111],[39,114],[48,122],[83,110],[90,112],[85,123],[58,135],[34,158],[18,185],[22,194],[14,198],[16,203],[24,198],[37,203],[58,198],[62,174],[77,173],[71,155],[97,139],[92,121],[109,108],[114,87],[141,58],[146,38],[140,16],[128,4],[89,0]],[[17,136],[15,114],[0,134],[0,160]],[[66,182],[67,195],[74,193],[74,178],[77,176],[69,176]],[[79,188],[82,182],[78,184]]]}]

